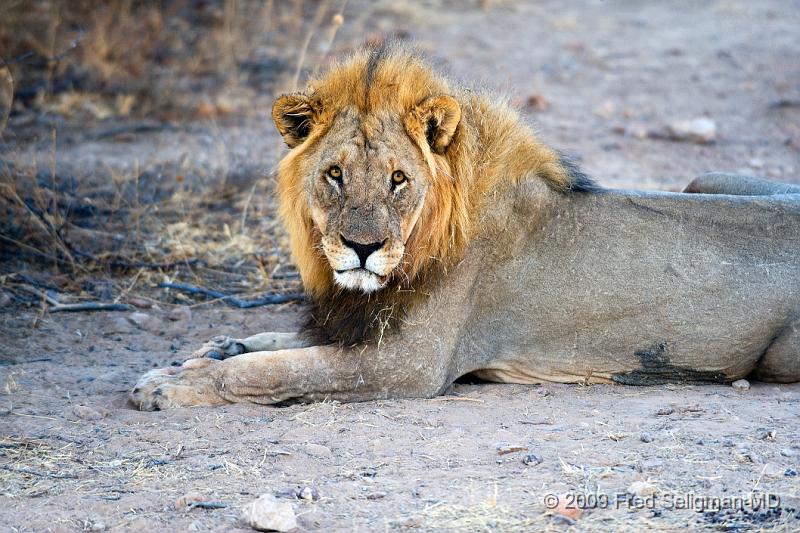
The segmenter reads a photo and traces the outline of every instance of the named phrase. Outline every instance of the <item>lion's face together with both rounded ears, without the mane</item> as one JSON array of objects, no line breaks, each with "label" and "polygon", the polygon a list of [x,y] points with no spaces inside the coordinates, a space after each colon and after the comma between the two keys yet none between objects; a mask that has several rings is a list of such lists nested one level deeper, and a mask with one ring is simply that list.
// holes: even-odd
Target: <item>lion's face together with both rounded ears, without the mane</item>
[{"label": "lion's face together with both rounded ears, without the mane", "polygon": [[[302,93],[275,103],[278,130],[299,148],[279,171],[287,198],[296,199],[285,203],[307,211],[336,285],[370,293],[406,274],[406,246],[433,183],[434,154],[444,153],[460,117],[448,96],[369,113],[352,105],[326,110]],[[284,211],[285,219],[300,221],[299,215]],[[289,227],[290,234],[296,229],[297,257],[311,242],[301,224]]]}]

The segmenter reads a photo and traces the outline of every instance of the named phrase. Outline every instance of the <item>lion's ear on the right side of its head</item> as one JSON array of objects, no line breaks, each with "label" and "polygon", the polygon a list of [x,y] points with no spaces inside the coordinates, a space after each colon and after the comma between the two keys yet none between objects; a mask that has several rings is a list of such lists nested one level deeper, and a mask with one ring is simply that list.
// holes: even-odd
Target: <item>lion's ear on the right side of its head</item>
[{"label": "lion's ear on the right side of its head", "polygon": [[408,133],[423,138],[431,150],[443,154],[461,121],[461,106],[450,96],[431,96],[417,104],[406,117]]}]

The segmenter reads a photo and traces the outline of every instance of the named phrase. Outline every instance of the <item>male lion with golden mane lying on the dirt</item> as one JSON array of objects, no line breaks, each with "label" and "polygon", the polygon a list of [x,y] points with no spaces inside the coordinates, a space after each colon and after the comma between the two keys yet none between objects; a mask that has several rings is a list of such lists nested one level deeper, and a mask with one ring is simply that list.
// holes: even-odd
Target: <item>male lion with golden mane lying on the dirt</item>
[{"label": "male lion with golden mane lying on the dirt", "polygon": [[602,190],[507,105],[393,47],[272,115],[309,327],[152,370],[131,393],[141,409],[430,397],[469,373],[800,380],[800,187]]}]

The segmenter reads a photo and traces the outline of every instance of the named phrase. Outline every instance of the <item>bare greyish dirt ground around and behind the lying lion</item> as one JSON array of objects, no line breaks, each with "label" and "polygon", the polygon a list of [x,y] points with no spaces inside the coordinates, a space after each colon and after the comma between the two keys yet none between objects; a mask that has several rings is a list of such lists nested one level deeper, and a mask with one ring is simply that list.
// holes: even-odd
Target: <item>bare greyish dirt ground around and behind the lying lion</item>
[{"label": "bare greyish dirt ground around and behind the lying lion", "polygon": [[[414,41],[518,104],[603,186],[677,190],[709,170],[800,183],[800,2],[354,1],[344,19],[334,50]],[[252,176],[281,154],[271,98],[241,120],[124,138],[65,125],[56,150],[44,126],[20,122],[0,159],[121,173],[180,162],[203,169],[200,186],[224,173],[236,194],[206,208],[238,218],[245,198],[252,231],[267,231],[271,188]],[[714,143],[653,134],[696,117],[715,122]],[[3,274],[27,264],[0,246]],[[46,313],[7,293],[0,529],[244,530],[241,506],[263,493],[291,501],[307,531],[800,529],[800,384],[459,383],[431,400],[142,413],[126,395],[146,370],[216,334],[291,331],[301,315],[146,289],[138,325],[132,311]],[[190,493],[200,505],[176,507]],[[585,509],[557,516],[548,495]]]}]

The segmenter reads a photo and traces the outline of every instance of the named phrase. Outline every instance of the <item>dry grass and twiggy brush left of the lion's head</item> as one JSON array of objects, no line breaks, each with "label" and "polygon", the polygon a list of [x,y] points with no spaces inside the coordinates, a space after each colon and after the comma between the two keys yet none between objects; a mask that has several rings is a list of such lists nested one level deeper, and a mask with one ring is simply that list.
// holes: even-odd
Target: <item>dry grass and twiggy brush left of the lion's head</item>
[{"label": "dry grass and twiggy brush left of the lion's head", "polygon": [[[264,179],[274,161],[237,166],[216,132],[268,120],[273,95],[329,56],[346,4],[0,5],[0,150],[16,153],[2,158],[16,164],[0,160],[0,287],[34,305],[15,285],[71,300],[163,299],[150,289],[174,280],[239,295],[297,292]],[[214,138],[214,168],[137,159],[76,172],[57,151],[83,141],[87,125],[101,125],[93,139],[124,143],[192,122]],[[49,155],[25,160],[33,143]]]}]

